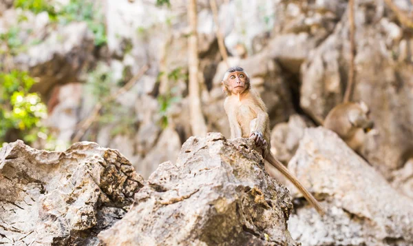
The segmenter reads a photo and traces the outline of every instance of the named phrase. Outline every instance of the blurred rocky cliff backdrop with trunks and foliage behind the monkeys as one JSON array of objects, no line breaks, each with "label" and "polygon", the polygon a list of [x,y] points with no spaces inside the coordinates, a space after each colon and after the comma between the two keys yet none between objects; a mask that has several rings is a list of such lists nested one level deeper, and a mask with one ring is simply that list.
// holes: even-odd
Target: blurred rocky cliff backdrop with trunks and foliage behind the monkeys
[{"label": "blurred rocky cliff backdrop with trunks and foliage behind the monkeys", "polygon": [[240,65],[288,162],[304,128],[343,101],[354,61],[351,100],[375,123],[361,154],[413,197],[413,1],[354,1],[354,60],[348,10],[343,0],[0,0],[0,144],[94,141],[147,178],[189,136],[229,137],[220,81]]}]

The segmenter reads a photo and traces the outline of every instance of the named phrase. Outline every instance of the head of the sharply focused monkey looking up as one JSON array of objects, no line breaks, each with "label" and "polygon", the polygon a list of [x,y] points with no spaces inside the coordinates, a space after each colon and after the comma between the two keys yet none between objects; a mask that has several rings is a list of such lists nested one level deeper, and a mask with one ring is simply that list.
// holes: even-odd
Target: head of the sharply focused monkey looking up
[{"label": "head of the sharply focused monkey looking up", "polygon": [[250,89],[250,80],[244,68],[232,67],[226,70],[221,82],[222,91],[231,96],[231,94],[241,94]]}]

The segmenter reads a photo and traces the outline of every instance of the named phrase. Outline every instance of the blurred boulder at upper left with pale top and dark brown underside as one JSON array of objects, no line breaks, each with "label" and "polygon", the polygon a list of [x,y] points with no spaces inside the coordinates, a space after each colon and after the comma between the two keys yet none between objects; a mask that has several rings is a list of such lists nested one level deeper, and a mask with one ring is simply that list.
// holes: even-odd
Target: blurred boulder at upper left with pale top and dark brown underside
[{"label": "blurred boulder at upper left with pale top and dark brown underside", "polygon": [[[59,25],[53,32],[45,29],[46,39],[15,57],[19,69],[39,78],[32,90],[49,96],[56,84],[81,80],[84,70],[94,63],[94,37],[86,23]],[[70,57],[70,59],[68,59]]]}]

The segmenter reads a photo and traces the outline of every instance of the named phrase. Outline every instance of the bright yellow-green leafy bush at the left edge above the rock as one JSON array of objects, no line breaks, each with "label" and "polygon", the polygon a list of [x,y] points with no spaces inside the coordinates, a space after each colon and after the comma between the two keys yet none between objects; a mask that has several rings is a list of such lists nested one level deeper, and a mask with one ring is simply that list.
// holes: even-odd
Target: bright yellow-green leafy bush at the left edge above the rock
[{"label": "bright yellow-green leafy bush at the left edge above the rock", "polygon": [[[45,135],[41,119],[47,115],[46,107],[36,93],[29,90],[35,83],[26,72],[13,70],[0,73],[0,141],[15,130],[23,140],[32,143]],[[43,134],[43,135],[42,135]]]}]

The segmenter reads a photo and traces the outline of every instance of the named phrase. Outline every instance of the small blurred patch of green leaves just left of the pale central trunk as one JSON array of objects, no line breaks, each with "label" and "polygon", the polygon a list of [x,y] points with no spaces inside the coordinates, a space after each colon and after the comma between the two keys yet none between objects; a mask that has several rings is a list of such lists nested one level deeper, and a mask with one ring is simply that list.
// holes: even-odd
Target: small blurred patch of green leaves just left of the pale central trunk
[{"label": "small blurred patch of green leaves just left of the pale central trunk", "polygon": [[[164,72],[158,74],[158,78],[162,76]],[[165,129],[168,124],[169,108],[173,103],[178,103],[182,98],[177,93],[178,88],[176,87],[176,82],[180,79],[187,80],[188,75],[182,71],[182,68],[176,68],[167,74],[168,80],[171,82],[172,87],[166,94],[158,95],[158,104],[159,104],[159,114],[160,114],[160,127]]]}]

